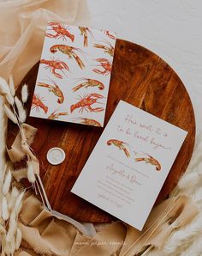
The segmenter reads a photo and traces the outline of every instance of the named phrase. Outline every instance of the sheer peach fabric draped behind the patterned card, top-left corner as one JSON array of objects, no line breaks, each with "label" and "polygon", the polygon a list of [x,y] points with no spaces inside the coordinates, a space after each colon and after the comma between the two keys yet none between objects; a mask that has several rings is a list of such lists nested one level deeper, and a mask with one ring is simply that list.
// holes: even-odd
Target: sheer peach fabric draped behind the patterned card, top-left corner
[{"label": "sheer peach fabric draped behind the patterned card, top-left corner", "polygon": [[[82,0],[83,1],[83,0]],[[80,0],[13,0],[0,3],[0,76],[21,82],[39,61],[47,21],[77,19]],[[85,2],[85,1],[83,1]]]}]

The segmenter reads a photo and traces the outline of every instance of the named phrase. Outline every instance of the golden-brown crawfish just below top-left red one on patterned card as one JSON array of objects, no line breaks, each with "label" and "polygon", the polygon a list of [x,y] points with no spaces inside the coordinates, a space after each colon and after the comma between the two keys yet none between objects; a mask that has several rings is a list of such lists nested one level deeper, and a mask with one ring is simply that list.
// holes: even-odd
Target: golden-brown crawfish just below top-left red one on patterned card
[{"label": "golden-brown crawfish just below top-left red one on patterned card", "polygon": [[79,56],[75,53],[77,51],[83,54],[83,52],[79,48],[75,48],[74,46],[65,46],[65,45],[54,45],[50,47],[50,52],[56,53],[57,51],[67,54],[68,58],[74,58],[76,63],[80,66],[80,69],[85,68],[85,64],[83,64]]}]

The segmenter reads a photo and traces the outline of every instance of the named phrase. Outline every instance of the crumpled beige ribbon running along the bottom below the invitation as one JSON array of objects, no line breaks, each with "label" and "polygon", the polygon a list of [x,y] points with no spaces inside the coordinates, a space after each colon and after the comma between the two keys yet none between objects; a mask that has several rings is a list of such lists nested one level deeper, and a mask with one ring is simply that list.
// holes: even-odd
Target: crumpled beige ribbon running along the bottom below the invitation
[{"label": "crumpled beige ribbon running along the bottom below the invitation", "polygon": [[33,252],[32,255],[134,256],[147,246],[163,247],[171,232],[187,225],[197,213],[198,209],[190,198],[169,198],[151,210],[141,232],[118,221],[105,224],[103,229],[90,237],[83,234],[78,222],[70,223],[53,216],[37,198],[29,194],[18,222],[23,244],[17,254],[21,254],[26,247],[28,253]]}]

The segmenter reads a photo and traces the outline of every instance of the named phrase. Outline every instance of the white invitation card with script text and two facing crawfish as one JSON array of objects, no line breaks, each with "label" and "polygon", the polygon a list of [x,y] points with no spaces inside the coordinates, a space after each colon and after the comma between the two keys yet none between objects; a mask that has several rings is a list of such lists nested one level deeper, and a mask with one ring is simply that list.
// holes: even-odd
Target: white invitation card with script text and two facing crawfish
[{"label": "white invitation card with script text and two facing crawfish", "polygon": [[141,230],[186,136],[120,101],[71,192]]}]

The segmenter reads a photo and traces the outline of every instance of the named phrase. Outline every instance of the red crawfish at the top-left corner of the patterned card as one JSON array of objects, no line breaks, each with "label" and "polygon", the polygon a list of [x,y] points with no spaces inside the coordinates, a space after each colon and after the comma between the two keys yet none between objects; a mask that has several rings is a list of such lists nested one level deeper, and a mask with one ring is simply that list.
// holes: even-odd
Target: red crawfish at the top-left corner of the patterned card
[{"label": "red crawfish at the top-left corner of the patterned card", "polygon": [[67,37],[68,37],[72,42],[74,42],[74,34],[71,34],[68,31],[67,27],[65,27],[61,23],[59,23],[59,22],[49,22],[48,25],[50,27],[52,27],[49,30],[54,31],[56,34],[46,33],[45,35],[47,37],[55,38],[55,39],[62,38],[62,40],[67,40]]}]

